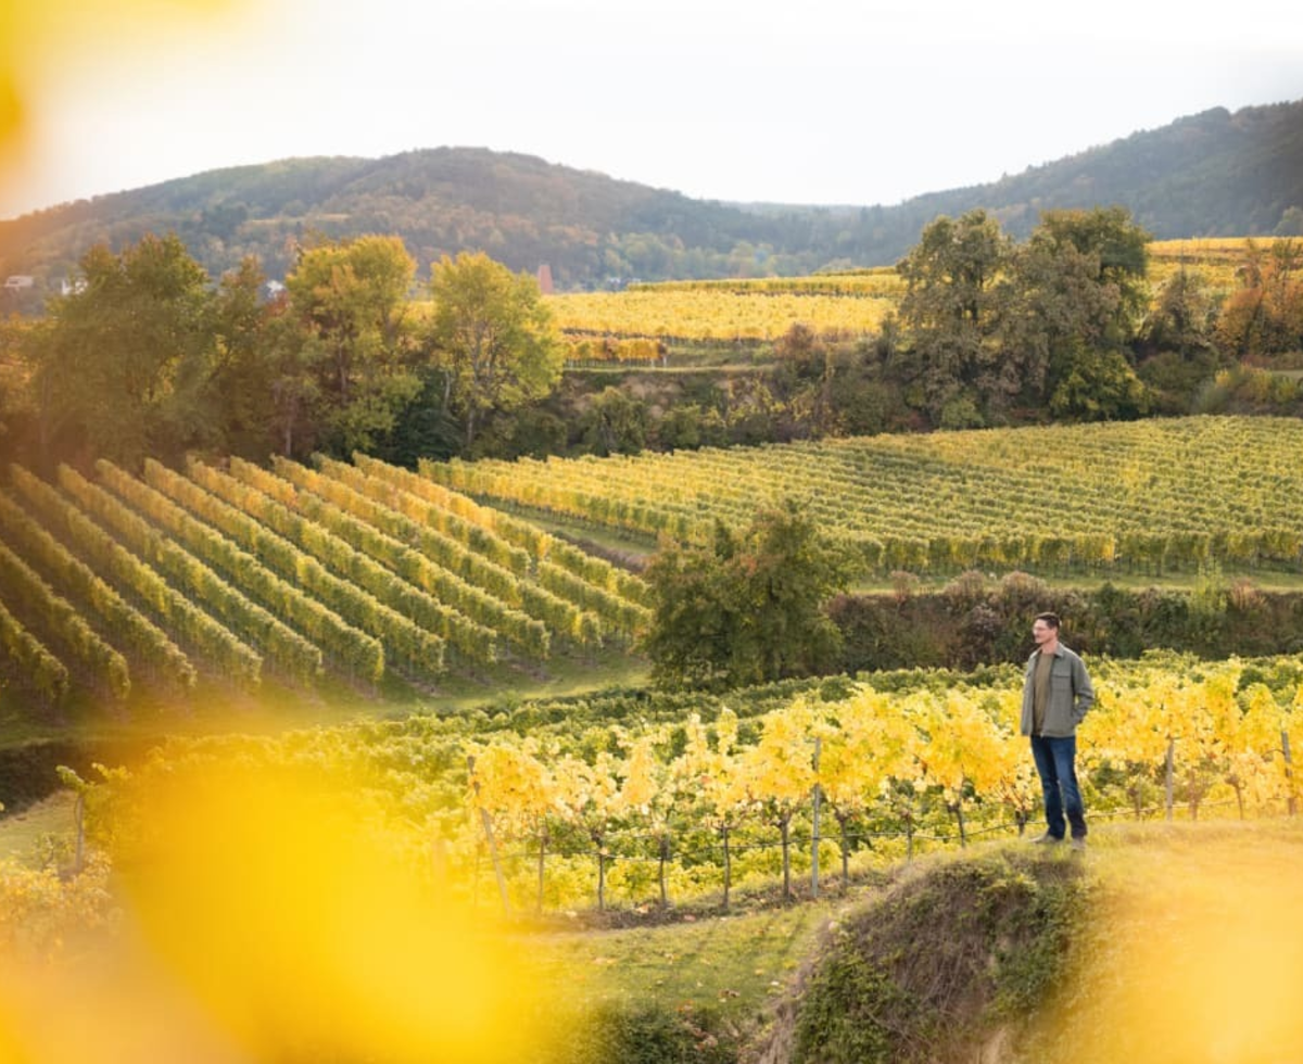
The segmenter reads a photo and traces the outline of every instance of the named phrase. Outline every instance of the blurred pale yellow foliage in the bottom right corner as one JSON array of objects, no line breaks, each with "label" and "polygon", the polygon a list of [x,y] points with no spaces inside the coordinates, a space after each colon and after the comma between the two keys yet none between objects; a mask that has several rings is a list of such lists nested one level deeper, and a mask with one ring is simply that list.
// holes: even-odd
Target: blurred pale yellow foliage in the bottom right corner
[{"label": "blurred pale yellow foliage in the bottom right corner", "polygon": [[1068,994],[1046,1016],[1054,1064],[1298,1060],[1303,1052],[1303,914],[1282,871],[1287,847],[1251,837],[1205,839],[1181,871],[1134,886],[1083,921],[1100,944],[1080,973],[1091,994]]}]

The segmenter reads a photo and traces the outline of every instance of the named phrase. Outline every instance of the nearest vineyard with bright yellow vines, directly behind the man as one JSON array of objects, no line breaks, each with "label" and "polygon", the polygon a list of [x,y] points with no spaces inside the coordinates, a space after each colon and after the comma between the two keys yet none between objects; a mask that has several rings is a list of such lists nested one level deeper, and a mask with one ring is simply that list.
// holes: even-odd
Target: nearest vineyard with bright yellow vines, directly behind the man
[{"label": "nearest vineyard with bright yellow vines, directly behind the man", "polygon": [[[1079,771],[1092,822],[1298,811],[1296,656],[1092,664]],[[1022,671],[906,669],[727,694],[602,692],[485,715],[422,715],[172,738],[87,780],[99,830],[151,815],[165,779],[287,774],[339,788],[453,895],[512,912],[784,895],[1035,826]],[[180,767],[184,766],[184,770]],[[801,886],[804,880],[807,886]]]}]

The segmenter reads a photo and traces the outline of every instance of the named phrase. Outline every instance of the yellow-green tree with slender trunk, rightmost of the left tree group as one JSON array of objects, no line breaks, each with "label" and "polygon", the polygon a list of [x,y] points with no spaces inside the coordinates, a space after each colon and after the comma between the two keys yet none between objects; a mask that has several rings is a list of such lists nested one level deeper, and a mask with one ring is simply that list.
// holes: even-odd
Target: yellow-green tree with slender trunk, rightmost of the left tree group
[{"label": "yellow-green tree with slender trunk, rightmost of the left tree group", "polygon": [[443,406],[470,452],[486,419],[552,391],[564,352],[534,277],[483,253],[434,263],[430,294],[430,361],[444,372]]}]

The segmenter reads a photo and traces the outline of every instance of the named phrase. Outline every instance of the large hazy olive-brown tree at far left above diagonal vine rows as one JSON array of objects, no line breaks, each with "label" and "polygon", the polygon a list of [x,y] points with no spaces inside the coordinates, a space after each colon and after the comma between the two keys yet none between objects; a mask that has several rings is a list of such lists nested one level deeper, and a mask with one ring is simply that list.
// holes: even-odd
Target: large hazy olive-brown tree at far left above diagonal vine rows
[{"label": "large hazy olive-brown tree at far left above diagonal vine rows", "polygon": [[85,448],[125,466],[211,439],[208,276],[175,234],[81,260],[83,284],[53,297],[27,335],[43,457]]}]

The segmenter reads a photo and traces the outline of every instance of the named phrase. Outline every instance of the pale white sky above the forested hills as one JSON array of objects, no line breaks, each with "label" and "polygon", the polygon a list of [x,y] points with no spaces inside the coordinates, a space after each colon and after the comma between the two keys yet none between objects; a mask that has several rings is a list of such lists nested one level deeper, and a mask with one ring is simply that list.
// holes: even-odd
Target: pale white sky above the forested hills
[{"label": "pale white sky above the forested hills", "polygon": [[122,18],[104,16],[122,0],[31,3],[63,13],[0,217],[444,145],[694,198],[890,204],[1303,99],[1303,17],[1278,0],[126,0]]}]

